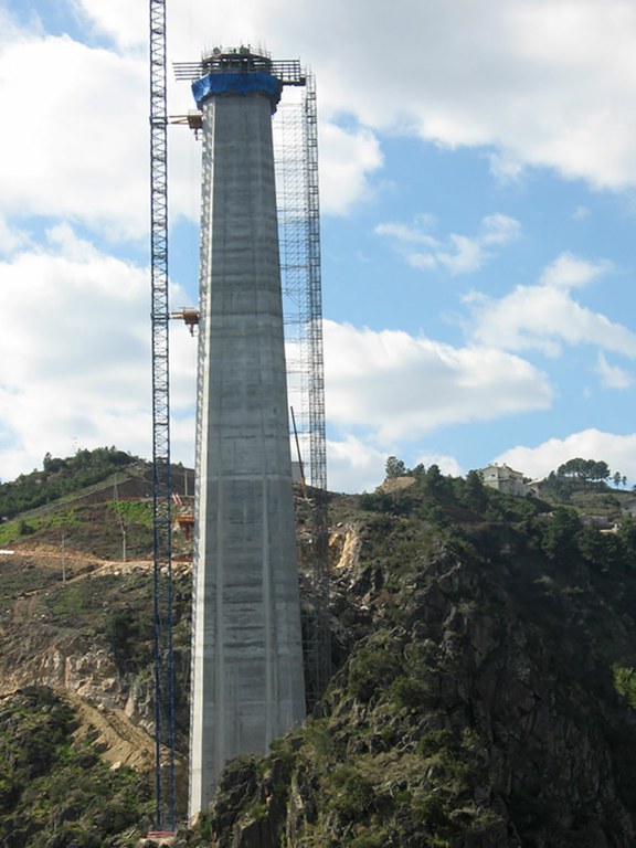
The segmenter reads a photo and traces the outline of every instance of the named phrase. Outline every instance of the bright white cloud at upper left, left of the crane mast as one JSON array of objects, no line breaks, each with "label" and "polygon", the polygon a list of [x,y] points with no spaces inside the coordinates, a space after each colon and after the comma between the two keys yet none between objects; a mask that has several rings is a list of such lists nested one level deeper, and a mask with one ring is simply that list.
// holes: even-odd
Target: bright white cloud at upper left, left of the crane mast
[{"label": "bright white cloud at upper left, left of the crane mast", "polygon": [[82,219],[113,237],[148,230],[144,62],[67,36],[0,36],[0,212]]}]

